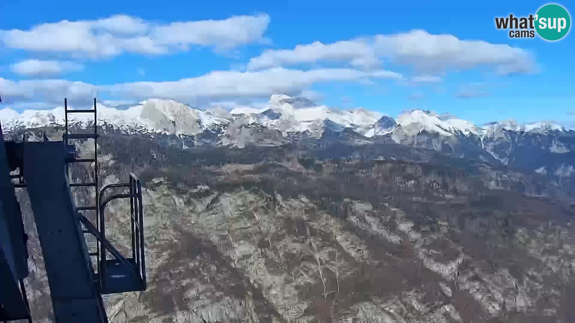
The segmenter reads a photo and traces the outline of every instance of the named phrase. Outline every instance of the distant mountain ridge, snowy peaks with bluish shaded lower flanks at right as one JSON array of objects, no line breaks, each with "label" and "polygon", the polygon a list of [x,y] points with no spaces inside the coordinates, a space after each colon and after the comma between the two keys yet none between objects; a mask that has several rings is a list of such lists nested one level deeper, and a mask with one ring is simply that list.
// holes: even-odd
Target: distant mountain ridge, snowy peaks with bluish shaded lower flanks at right
[{"label": "distant mountain ridge, snowy peaks with bluish shaded lower flanks at right", "polygon": [[[183,149],[250,145],[304,148],[384,142],[432,149],[451,156],[501,163],[555,178],[575,178],[575,132],[551,122],[513,120],[483,126],[448,114],[411,110],[393,118],[362,108],[341,110],[305,98],[274,94],[263,107],[231,111],[194,109],[173,100],[148,99],[120,110],[98,104],[104,132],[167,137]],[[91,116],[72,114],[72,126],[85,128]],[[0,110],[3,132],[62,126],[64,109]],[[574,183],[575,184],[575,183]]]}]

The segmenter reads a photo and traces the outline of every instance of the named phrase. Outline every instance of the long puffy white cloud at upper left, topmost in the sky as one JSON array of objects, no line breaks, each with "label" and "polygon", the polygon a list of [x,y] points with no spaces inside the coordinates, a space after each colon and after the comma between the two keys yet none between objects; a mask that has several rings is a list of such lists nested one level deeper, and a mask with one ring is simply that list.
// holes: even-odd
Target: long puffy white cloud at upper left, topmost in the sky
[{"label": "long puffy white cloud at upper left, topmost in the sky", "polygon": [[124,52],[158,55],[194,45],[221,50],[262,40],[269,22],[267,14],[259,14],[162,25],[117,15],[100,20],[45,23],[28,30],[0,30],[0,44],[80,57],[109,57]]}]

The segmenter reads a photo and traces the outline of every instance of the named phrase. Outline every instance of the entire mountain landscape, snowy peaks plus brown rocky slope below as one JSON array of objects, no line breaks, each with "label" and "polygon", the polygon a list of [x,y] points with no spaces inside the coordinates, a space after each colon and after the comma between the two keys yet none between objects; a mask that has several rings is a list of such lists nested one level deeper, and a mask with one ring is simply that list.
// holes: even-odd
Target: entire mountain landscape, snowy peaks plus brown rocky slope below
[{"label": "entire mountain landscape, snowy peaks plus brown rocky slope below", "polygon": [[[572,132],[310,105],[98,107],[102,185],[128,172],[144,184],[149,288],[106,296],[110,322],[575,320]],[[61,140],[60,117],[0,114],[15,140]],[[76,147],[93,153],[90,140]],[[72,180],[92,170],[72,167]],[[34,322],[51,322],[25,191],[18,198]],[[106,218],[123,251],[128,210],[112,203]]]}]

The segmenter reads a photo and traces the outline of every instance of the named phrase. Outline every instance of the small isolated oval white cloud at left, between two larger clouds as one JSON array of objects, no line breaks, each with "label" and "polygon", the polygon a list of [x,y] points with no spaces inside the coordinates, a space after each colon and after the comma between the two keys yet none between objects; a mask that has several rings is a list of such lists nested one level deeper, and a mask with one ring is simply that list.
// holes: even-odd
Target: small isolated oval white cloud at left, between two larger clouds
[{"label": "small isolated oval white cloud at left, between two larger clouds", "polygon": [[78,71],[83,66],[72,61],[29,59],[11,64],[10,68],[18,75],[45,77],[60,75],[67,71]]}]

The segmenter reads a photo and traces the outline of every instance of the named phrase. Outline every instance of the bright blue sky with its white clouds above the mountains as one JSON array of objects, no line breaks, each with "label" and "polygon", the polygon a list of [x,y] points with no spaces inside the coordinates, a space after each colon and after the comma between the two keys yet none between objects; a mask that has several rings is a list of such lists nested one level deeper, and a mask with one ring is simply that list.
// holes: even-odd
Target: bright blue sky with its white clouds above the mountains
[{"label": "bright blue sky with its white clouds above the mountains", "polygon": [[3,0],[0,94],[22,110],[64,96],[229,106],[285,92],[392,116],[575,125],[573,33],[550,43],[494,26],[545,3]]}]

